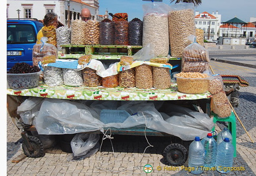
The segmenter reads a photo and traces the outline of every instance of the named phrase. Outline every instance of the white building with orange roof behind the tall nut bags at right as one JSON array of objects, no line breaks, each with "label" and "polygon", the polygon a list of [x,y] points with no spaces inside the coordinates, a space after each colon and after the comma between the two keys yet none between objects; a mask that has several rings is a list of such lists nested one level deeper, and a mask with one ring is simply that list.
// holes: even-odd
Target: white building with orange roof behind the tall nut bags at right
[{"label": "white building with orange roof behind the tall nut bags at right", "polygon": [[196,11],[196,28],[202,29],[204,31],[205,40],[217,40],[217,37],[219,37],[220,22],[221,15],[218,14],[218,11],[216,11],[216,14],[214,12],[212,14],[209,14],[208,12],[202,12],[199,14],[199,11]]}]

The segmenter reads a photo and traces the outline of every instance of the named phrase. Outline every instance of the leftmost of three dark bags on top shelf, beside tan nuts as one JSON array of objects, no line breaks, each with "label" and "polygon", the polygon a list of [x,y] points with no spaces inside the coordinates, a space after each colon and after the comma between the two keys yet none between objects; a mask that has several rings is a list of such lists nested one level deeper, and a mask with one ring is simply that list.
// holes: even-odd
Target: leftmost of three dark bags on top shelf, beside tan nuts
[{"label": "leftmost of three dark bags on top shelf, beside tan nuts", "polygon": [[114,44],[114,23],[107,18],[100,22],[100,44]]}]

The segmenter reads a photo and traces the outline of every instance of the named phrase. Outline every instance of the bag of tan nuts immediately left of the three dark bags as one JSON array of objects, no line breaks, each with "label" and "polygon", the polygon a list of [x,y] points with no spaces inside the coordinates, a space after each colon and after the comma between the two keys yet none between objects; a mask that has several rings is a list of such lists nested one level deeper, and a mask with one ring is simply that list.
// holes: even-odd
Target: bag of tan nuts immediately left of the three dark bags
[{"label": "bag of tan nuts immediately left of the three dark bags", "polygon": [[87,21],[85,25],[85,44],[100,43],[100,27],[98,21]]}]

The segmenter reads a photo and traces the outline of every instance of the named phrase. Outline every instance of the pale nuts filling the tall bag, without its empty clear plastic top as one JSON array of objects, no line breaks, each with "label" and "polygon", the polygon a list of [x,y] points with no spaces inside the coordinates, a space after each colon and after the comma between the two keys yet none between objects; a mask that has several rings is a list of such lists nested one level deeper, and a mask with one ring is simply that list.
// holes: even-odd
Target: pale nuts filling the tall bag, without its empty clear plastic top
[{"label": "pale nuts filling the tall bag, without its empty clear plastic top", "polygon": [[167,15],[148,14],[143,17],[142,46],[152,43],[155,57],[167,56],[169,52]]}]

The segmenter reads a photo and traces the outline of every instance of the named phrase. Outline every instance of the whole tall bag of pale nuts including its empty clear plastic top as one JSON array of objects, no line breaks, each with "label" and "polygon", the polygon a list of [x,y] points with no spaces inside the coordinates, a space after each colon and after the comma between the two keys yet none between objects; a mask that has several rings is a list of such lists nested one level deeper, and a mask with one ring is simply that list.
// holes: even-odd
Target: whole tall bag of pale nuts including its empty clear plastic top
[{"label": "whole tall bag of pale nuts including its empty clear plastic top", "polygon": [[155,57],[167,56],[169,53],[168,11],[164,3],[152,2],[143,4],[143,36],[142,46],[151,43]]}]

